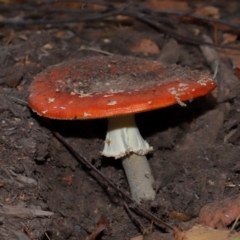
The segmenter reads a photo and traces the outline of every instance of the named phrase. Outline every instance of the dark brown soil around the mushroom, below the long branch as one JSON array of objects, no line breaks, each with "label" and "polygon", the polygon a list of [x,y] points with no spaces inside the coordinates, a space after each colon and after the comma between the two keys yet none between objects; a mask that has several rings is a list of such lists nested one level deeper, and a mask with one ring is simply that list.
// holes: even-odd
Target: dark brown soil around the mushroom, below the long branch
[{"label": "dark brown soil around the mushroom, below the long branch", "polygon": [[[220,2],[221,11],[227,11],[227,5]],[[237,7],[240,9],[240,4]],[[1,14],[10,18],[23,12]],[[176,27],[178,32],[199,27],[212,34],[212,28],[203,24]],[[84,239],[94,231],[100,216],[109,224],[98,239],[123,240],[141,234],[114,189],[77,161],[52,133],[54,126],[104,176],[127,192],[120,160],[101,156],[107,120],[46,121],[27,105],[28,89],[37,73],[68,59],[102,54],[81,50],[81,46],[152,60],[166,54],[131,53],[131,46],[140,38],[153,40],[160,49],[172,41],[137,20],[121,27],[104,19],[0,25],[0,239]],[[179,57],[170,60],[209,70],[199,46],[186,42],[174,46]],[[228,87],[231,91],[231,85]],[[240,90],[234,90],[234,96],[221,103],[215,90],[187,107],[175,105],[136,116],[141,134],[154,148],[148,159],[157,188],[156,199],[142,206],[172,226],[187,228],[190,222],[183,224],[169,217],[170,213],[182,213],[195,221],[205,204],[239,193]],[[151,221],[141,214],[133,215],[146,229],[151,227]],[[153,231],[170,230],[153,226]],[[163,236],[167,239],[168,234]]]}]

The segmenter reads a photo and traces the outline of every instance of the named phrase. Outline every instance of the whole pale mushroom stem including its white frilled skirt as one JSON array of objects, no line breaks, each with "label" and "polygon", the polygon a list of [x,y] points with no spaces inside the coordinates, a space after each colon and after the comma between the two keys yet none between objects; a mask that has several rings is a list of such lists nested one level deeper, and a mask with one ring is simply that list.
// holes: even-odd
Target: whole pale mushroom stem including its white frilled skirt
[{"label": "whole pale mushroom stem including its white frilled skirt", "polygon": [[122,158],[132,198],[152,200],[155,191],[151,169],[145,155],[152,147],[142,138],[134,115],[108,119],[108,132],[102,154],[106,157]]}]

